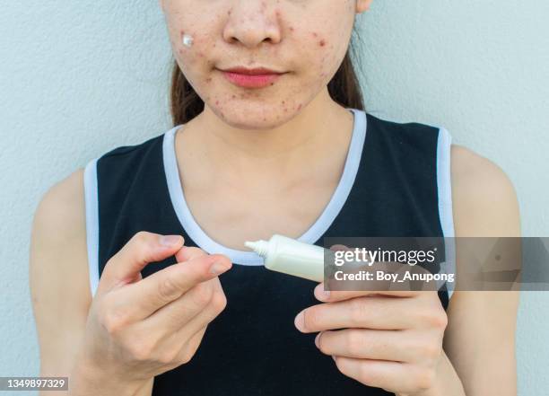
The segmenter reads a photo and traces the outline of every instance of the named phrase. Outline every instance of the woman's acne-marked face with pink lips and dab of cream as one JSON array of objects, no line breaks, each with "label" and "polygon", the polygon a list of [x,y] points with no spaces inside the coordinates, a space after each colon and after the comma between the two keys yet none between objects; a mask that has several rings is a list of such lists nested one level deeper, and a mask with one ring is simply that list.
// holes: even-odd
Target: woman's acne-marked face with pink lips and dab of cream
[{"label": "woman's acne-marked face with pink lips and dab of cream", "polygon": [[[161,7],[174,57],[205,104],[233,127],[266,128],[291,119],[326,88],[355,14],[370,1],[161,0]],[[282,74],[261,87],[241,86],[222,71],[238,66]]]}]

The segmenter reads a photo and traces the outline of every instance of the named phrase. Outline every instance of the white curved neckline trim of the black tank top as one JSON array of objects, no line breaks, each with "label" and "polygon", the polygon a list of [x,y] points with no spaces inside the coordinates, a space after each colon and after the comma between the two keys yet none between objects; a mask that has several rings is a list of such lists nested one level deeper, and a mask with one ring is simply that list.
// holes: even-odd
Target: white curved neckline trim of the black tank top
[{"label": "white curved neckline trim of the black tank top", "polygon": [[[366,137],[367,119],[366,113],[363,110],[348,108],[353,113],[353,136],[348,148],[347,157],[344,163],[344,172],[337,184],[337,187],[332,194],[327,206],[317,220],[303,233],[298,241],[306,243],[317,242],[318,239],[327,231],[328,227],[334,222],[335,217],[339,214],[344,203],[351,192],[356,174],[358,172],[359,163],[361,161],[362,146]],[[264,264],[264,259],[255,251],[240,251],[231,249],[222,245],[205,233],[205,231],[196,223],[192,216],[187,201],[181,187],[179,179],[179,168],[175,153],[175,132],[182,127],[181,125],[171,128],[166,132],[163,140],[163,159],[164,172],[168,182],[170,191],[170,199],[176,215],[179,218],[179,223],[185,229],[188,236],[196,243],[196,245],[207,253],[221,253],[228,256],[233,264],[260,266]]]}]

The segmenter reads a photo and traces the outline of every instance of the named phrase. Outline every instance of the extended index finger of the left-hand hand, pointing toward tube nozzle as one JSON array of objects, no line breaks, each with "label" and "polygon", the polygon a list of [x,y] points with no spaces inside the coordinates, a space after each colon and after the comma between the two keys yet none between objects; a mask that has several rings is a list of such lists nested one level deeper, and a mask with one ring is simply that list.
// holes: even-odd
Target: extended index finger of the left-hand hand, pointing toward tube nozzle
[{"label": "extended index finger of the left-hand hand, pointing toward tube nozzle", "polygon": [[[217,268],[217,265],[221,268]],[[115,310],[124,312],[126,321],[140,321],[178,299],[190,288],[217,277],[231,267],[231,260],[222,254],[199,256],[170,265],[117,290]],[[214,269],[219,272],[212,272]]]}]

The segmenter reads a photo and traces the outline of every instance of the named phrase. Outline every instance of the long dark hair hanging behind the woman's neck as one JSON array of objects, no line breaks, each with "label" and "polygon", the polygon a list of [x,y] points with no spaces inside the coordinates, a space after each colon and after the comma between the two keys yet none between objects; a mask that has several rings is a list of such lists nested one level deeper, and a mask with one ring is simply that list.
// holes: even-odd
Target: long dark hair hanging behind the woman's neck
[{"label": "long dark hair hanging behind the woman's neck", "polygon": [[[355,28],[353,26],[353,33],[356,34]],[[352,55],[354,59],[358,58],[353,40],[351,40],[345,57],[327,88],[331,98],[345,108],[364,110],[362,89],[354,69]],[[187,123],[200,114],[204,110],[204,101],[188,83],[175,59],[172,67],[170,112],[173,125],[176,126]]]}]

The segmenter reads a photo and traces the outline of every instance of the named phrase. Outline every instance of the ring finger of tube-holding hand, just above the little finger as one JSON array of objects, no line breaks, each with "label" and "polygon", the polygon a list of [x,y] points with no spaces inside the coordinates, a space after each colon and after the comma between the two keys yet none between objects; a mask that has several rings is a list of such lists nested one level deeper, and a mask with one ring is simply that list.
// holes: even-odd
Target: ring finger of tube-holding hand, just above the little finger
[{"label": "ring finger of tube-holding hand, just above the little finger", "polygon": [[315,345],[326,355],[414,362],[431,343],[406,337],[407,330],[344,329],[318,333]]}]

